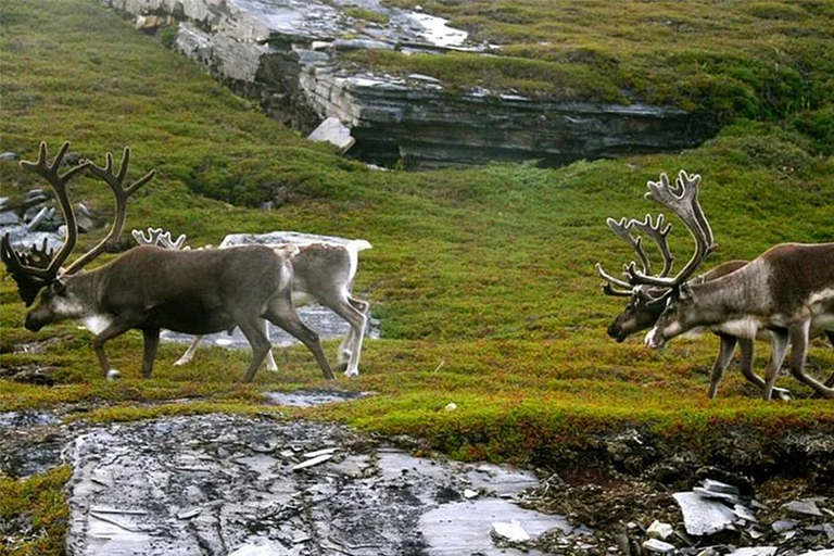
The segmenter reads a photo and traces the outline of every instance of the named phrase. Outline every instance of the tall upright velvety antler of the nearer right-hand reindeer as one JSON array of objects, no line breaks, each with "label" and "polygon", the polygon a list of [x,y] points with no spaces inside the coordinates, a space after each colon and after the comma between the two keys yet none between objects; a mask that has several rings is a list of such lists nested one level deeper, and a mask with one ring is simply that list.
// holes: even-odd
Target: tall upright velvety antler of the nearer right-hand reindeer
[{"label": "tall upright velvety antler of the nearer right-hand reindeer", "polygon": [[679,173],[677,187],[669,184],[666,174],[660,174],[660,181],[649,181],[646,199],[652,199],[671,208],[677,214],[695,239],[695,253],[688,263],[673,278],[664,276],[647,276],[636,269],[635,263],[630,263],[624,270],[631,286],[646,285],[661,288],[677,288],[688,279],[695,269],[704,262],[709,253],[718,245],[715,243],[712,230],[709,227],[704,211],[698,203],[698,186],[700,176],[687,176],[684,170]]}]

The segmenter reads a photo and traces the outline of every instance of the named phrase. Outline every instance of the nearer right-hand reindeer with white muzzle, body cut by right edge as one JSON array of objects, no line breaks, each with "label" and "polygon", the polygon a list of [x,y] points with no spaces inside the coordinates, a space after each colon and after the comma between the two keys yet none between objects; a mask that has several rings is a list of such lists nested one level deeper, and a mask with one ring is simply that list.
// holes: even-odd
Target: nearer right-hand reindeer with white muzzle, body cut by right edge
[{"label": "nearer right-hand reindeer with white muzzle, body cut by right edge", "polygon": [[[807,251],[797,247],[787,247],[789,252],[810,255],[809,265],[786,263],[788,257],[778,255],[776,258],[781,262],[772,273],[774,280],[770,280],[770,270],[763,273],[760,270],[762,262],[759,257],[711,280],[687,282],[692,273],[715,249],[712,231],[697,202],[699,182],[699,176],[688,177],[681,172],[678,187],[672,189],[666,175],[661,175],[660,182],[648,182],[649,192],[646,193],[647,198],[672,208],[695,239],[696,252],[685,268],[673,278],[666,275],[649,276],[646,268],[642,271],[637,270],[636,263],[632,262],[626,267],[628,280],[611,282],[630,287],[632,290],[650,290],[654,292],[655,306],[664,307],[662,315],[646,334],[646,343],[653,348],[660,348],[669,339],[698,327],[707,327],[719,332],[722,337],[722,349],[713,368],[710,383],[710,392],[712,392],[712,389],[718,387],[718,381],[726,366],[723,362],[729,362],[732,355],[735,341],[741,339],[751,350],[753,339],[766,331],[773,340],[773,349],[766,371],[763,397],[770,400],[772,396],[773,383],[784,359],[788,341],[796,342],[789,367],[794,377],[814,388],[821,395],[831,397],[834,390],[805,375],[803,363],[808,339],[834,329],[832,327],[834,319],[830,316],[834,312],[834,264],[832,264],[834,243],[806,245]],[[780,252],[782,248],[779,245],[773,250]],[[602,268],[598,267],[597,270],[601,271]],[[612,278],[607,274],[604,277]],[[721,293],[707,300],[702,295],[705,292]],[[706,303],[691,303],[694,299],[706,301]],[[685,307],[684,311],[679,311],[683,307]],[[679,320],[672,317],[678,314],[684,315],[685,318]],[[799,325],[799,323],[804,324]],[[800,328],[794,328],[794,325],[799,325]],[[829,338],[834,342],[831,333]],[[747,352],[744,344],[743,350],[744,368],[748,365],[747,362],[751,361],[751,351]],[[757,380],[754,382],[758,383]],[[832,382],[834,382],[834,376],[827,384]],[[779,395],[782,394],[779,393]]]}]

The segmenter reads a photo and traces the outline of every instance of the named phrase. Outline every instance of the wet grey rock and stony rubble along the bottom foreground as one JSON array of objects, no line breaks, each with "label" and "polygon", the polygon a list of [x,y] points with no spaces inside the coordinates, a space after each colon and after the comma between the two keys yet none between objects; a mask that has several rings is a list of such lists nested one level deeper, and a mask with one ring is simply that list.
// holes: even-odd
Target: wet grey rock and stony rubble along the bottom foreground
[{"label": "wet grey rock and stony rubble along the bottom foreground", "polygon": [[[270,403],[281,405],[368,395],[274,394]],[[601,434],[591,448],[533,475],[413,457],[409,451],[429,453],[419,441],[286,422],[273,414],[64,422],[90,408],[0,414],[2,473],[27,476],[62,462],[75,469],[70,554],[834,551],[834,458],[819,433],[782,439],[779,451],[791,454],[794,468],[757,478],[749,467],[710,467],[683,451],[670,456],[656,439],[634,430]],[[805,459],[796,455],[798,446]],[[682,503],[681,494],[690,500]],[[697,514],[693,521],[683,504],[695,497],[697,505],[707,501],[710,511],[722,506],[718,518]],[[3,528],[14,526],[0,522]]]}]

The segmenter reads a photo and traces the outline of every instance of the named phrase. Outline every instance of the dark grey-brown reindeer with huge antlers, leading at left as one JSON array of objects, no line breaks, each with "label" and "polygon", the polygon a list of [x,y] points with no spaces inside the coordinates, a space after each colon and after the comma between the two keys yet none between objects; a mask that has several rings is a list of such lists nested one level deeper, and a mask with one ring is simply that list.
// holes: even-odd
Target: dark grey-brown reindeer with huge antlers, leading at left
[{"label": "dark grey-brown reindeer with huge antlers, leading at left", "polygon": [[[64,143],[50,165],[47,146],[40,143],[38,162],[21,163],[55,191],[67,229],[58,254],[46,265],[31,266],[12,249],[9,235],[0,244],[2,261],[17,282],[24,303],[30,306],[38,292],[45,290],[39,303],[26,315],[27,329],[38,331],[49,324],[80,320],[96,334],[93,349],[108,378],[118,371],[108,361],[105,342],[127,330],[139,329],[144,338],[142,375],[148,378],[153,371],[161,328],[204,334],[238,326],[252,345],[253,358],[243,377],[243,381],[250,382],[269,351],[262,326],[262,318],[266,318],[301,340],[315,355],[325,378],[333,378],[317,334],[301,321],[292,305],[291,258],[299,251],[294,245],[203,251],[139,247],[109,264],[80,273],[84,265],[116,241],[124,227],[128,198],[150,181],[154,173],[149,172],[125,188],[130,156],[130,150],[125,148],[118,174],[113,172],[113,156],[108,153],[103,168],[85,161],[60,175],[59,167],[68,147]],[[104,239],[61,271],[77,239],[66,186],[84,169],[110,186],[116,199],[116,214]]]}]

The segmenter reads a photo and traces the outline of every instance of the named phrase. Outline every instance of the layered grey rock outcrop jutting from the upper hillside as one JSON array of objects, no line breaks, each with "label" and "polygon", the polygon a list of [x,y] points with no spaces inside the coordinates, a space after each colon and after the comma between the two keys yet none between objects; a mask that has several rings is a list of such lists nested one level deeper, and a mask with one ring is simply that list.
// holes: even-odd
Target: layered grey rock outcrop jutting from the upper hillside
[{"label": "layered grey rock outcrop jutting from the upper hillside", "polygon": [[[355,49],[488,50],[439,17],[377,0],[105,0],[137,26],[177,25],[176,47],[273,117],[304,132],[333,117],[355,156],[442,167],[492,160],[579,159],[674,151],[715,132],[707,115],[645,104],[546,102],[489,90],[452,92],[431,76],[351,73]],[[370,16],[368,14],[376,14]],[[370,21],[372,20],[372,21]]]}]

